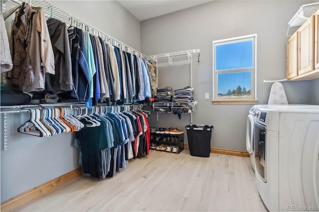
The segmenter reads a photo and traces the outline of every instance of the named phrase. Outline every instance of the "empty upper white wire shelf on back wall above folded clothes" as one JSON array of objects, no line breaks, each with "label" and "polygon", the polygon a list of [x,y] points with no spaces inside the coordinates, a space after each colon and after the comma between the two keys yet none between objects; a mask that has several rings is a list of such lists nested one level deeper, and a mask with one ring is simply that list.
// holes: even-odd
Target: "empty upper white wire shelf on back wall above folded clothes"
[{"label": "empty upper white wire shelf on back wall above folded clothes", "polygon": [[158,67],[178,66],[191,64],[191,55],[199,54],[199,49],[191,49],[179,52],[171,52],[149,56],[152,58]]}]

